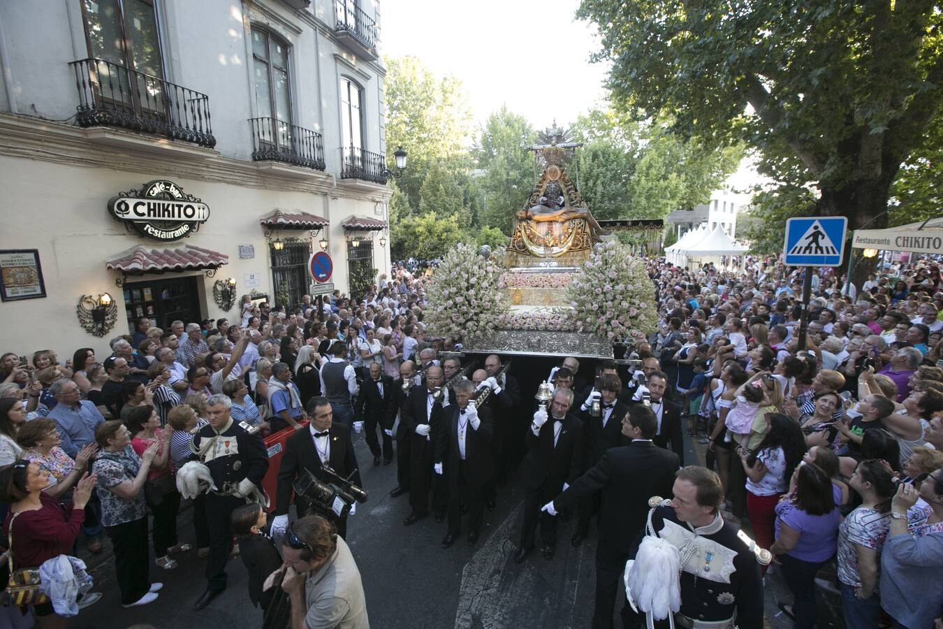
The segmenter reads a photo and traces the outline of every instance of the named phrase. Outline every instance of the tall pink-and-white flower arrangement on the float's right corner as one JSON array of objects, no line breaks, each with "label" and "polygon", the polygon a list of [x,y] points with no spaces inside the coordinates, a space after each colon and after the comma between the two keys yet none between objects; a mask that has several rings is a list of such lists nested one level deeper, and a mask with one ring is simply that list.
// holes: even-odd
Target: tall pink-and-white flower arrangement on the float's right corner
[{"label": "tall pink-and-white flower arrangement on the float's right corner", "polygon": [[578,330],[610,340],[647,334],[658,324],[645,264],[615,240],[593,248],[567,287],[567,298]]}]

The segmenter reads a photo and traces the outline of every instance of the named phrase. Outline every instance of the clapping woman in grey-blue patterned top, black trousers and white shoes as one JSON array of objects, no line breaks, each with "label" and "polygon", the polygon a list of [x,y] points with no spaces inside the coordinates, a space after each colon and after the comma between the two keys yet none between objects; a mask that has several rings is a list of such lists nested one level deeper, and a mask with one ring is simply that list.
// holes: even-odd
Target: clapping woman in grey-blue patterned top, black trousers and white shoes
[{"label": "clapping woman in grey-blue patterned top, black trousers and white shoes", "polygon": [[131,448],[131,433],[118,420],[98,424],[95,441],[101,452],[92,472],[98,478],[102,524],[114,549],[121,602],[125,607],[152,603],[163,584],[150,579],[143,488],[157,456],[157,443],[139,457]]}]

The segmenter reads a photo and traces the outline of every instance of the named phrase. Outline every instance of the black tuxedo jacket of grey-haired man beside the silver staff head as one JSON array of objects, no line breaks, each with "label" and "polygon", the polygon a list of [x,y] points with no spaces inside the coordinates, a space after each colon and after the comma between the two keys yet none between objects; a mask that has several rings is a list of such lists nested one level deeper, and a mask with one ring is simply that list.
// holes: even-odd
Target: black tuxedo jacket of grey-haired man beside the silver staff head
[{"label": "black tuxedo jacket of grey-haired man beside the silver staff head", "polygon": [[583,465],[583,424],[571,413],[563,418],[560,436],[554,448],[554,417],[550,416],[540,426],[539,436],[534,435],[533,424],[527,425],[524,442],[524,486],[536,489],[544,483],[562,487],[572,483],[580,475]]}]

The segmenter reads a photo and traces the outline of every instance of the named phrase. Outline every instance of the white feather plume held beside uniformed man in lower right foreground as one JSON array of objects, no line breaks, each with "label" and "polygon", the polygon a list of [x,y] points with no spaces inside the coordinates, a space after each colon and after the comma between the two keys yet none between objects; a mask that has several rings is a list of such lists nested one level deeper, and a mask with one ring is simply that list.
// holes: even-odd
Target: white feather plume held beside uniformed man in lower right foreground
[{"label": "white feather plume held beside uniformed man in lower right foreground", "polygon": [[625,594],[633,606],[662,621],[681,608],[681,555],[670,542],[646,536],[625,568]]}]

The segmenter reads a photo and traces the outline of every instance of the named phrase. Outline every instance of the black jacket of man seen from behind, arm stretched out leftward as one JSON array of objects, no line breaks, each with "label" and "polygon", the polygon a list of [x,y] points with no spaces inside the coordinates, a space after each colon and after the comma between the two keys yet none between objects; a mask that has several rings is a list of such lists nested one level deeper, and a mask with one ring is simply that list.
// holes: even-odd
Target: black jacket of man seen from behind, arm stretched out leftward
[{"label": "black jacket of man seen from behind, arm stretched out leftward", "polygon": [[669,498],[678,471],[678,456],[651,441],[633,441],[606,450],[599,462],[572,481],[554,499],[559,510],[580,498],[602,492],[598,556],[626,553],[637,541],[648,515],[648,499]]}]

